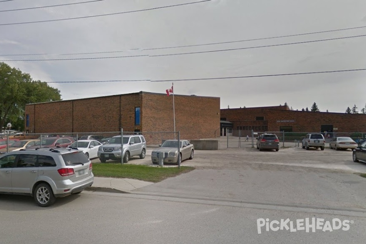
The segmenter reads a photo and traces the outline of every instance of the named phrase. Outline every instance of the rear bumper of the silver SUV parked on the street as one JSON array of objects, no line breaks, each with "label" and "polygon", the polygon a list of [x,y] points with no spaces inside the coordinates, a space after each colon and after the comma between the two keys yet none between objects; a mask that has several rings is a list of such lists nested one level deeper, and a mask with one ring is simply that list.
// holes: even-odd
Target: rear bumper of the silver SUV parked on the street
[{"label": "rear bumper of the silver SUV parked on the street", "polygon": [[73,193],[81,192],[87,187],[90,187],[94,183],[94,174],[91,173],[89,177],[72,182],[71,180],[65,180],[62,184],[58,184],[56,189],[53,189],[53,194],[56,197],[64,197]]}]

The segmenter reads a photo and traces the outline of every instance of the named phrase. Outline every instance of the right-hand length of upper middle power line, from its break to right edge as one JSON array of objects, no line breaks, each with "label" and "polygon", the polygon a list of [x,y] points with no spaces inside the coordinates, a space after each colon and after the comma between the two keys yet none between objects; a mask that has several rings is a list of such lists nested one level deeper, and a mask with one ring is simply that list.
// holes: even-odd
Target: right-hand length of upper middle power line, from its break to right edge
[{"label": "right-hand length of upper middle power line, from its break to right edge", "polygon": [[184,45],[184,46],[168,46],[168,47],[163,47],[163,48],[147,48],[147,49],[142,49],[142,50],[186,48],[186,47],[192,47],[192,46],[207,46],[207,45],[228,44],[228,43],[235,43],[235,42],[259,41],[259,40],[268,40],[268,39],[283,38],[283,37],[296,37],[299,35],[311,35],[311,34],[327,33],[327,32],[342,31],[342,30],[354,30],[354,29],[362,29],[362,28],[366,28],[366,26],[350,27],[350,28],[336,29],[336,30],[316,31],[316,32],[308,32],[308,33],[293,34],[293,35],[280,35],[280,36],[275,36],[275,37],[246,39],[246,40],[239,40],[239,41],[213,42],[213,43],[206,43],[206,44],[194,44],[194,45]]}]

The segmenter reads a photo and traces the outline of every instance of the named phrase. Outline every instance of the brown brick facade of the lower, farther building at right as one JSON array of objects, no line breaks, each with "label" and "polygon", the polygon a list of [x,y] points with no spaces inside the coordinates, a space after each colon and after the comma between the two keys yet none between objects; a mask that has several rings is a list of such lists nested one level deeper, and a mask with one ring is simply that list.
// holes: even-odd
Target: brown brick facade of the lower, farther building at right
[{"label": "brown brick facade of the lower, farther building at right", "polygon": [[[236,129],[292,132],[321,132],[322,125],[333,125],[337,132],[366,132],[366,115],[326,112],[303,112],[282,107],[221,109],[221,117],[234,123]],[[264,120],[256,120],[264,117]],[[254,128],[253,128],[254,127]]]}]

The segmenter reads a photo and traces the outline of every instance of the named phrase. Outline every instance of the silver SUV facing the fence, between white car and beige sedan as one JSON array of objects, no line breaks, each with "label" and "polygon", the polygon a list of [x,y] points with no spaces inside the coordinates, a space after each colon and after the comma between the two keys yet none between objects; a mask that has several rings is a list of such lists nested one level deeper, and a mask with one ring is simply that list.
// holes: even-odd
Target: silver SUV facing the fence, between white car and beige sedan
[{"label": "silver SUV facing the fence, between white car and beige sedan", "polygon": [[113,136],[106,144],[99,147],[98,158],[102,163],[108,159],[121,160],[121,157],[125,163],[133,156],[145,158],[146,141],[142,135],[123,136],[123,155],[121,146],[121,136]]}]

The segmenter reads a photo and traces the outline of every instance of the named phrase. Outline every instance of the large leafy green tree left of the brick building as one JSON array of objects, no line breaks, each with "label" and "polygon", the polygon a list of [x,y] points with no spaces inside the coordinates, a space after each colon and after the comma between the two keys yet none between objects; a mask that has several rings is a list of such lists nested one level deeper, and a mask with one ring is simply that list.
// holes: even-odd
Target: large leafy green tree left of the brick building
[{"label": "large leafy green tree left of the brick building", "polygon": [[58,89],[5,63],[0,63],[0,91],[1,129],[10,122],[12,129],[23,131],[26,104],[61,100]]}]

